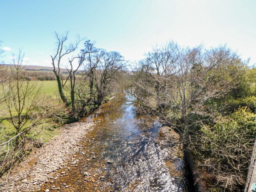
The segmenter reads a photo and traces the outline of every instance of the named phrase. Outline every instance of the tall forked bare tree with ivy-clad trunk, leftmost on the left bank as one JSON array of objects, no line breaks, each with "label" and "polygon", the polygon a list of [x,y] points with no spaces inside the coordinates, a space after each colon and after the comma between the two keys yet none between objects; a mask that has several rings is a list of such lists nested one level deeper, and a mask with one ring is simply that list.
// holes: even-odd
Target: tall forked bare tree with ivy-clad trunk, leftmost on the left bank
[{"label": "tall forked bare tree with ivy-clad trunk, leftmost on the left bank", "polygon": [[83,39],[81,39],[78,36],[78,38],[77,38],[77,40],[74,44],[70,43],[69,45],[66,45],[67,40],[68,40],[68,31],[63,35],[59,35],[56,32],[54,32],[54,33],[55,33],[55,36],[56,36],[56,46],[57,46],[57,48],[56,48],[55,54],[53,56],[51,55],[52,65],[53,65],[53,72],[54,72],[54,74],[56,76],[56,79],[57,79],[60,98],[66,105],[69,105],[68,101],[67,101],[67,98],[65,97],[65,94],[63,92],[63,87],[67,83],[67,81],[69,79],[69,76],[67,77],[67,79],[63,83],[63,80],[61,78],[61,70],[60,70],[61,59],[63,58],[63,56],[74,52],[78,48],[79,43]]}]

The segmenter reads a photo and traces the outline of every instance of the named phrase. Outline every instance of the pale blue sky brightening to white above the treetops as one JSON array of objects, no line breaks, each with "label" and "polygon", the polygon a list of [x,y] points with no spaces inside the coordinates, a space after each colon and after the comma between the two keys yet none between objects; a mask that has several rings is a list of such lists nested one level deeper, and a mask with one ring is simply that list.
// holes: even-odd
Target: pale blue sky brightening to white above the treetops
[{"label": "pale blue sky brightening to white above the treetops", "polygon": [[[140,60],[154,45],[227,44],[256,63],[256,0],[0,0],[2,58],[22,48],[27,65],[51,66],[54,31]],[[79,50],[83,48],[80,44]],[[63,61],[65,65],[65,61]]]}]

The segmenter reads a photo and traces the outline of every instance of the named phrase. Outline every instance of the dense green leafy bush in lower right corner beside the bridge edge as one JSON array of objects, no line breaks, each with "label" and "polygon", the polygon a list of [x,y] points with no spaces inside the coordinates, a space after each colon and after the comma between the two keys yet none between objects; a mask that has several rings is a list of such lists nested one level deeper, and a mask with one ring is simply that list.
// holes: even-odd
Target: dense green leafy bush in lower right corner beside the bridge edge
[{"label": "dense green leafy bush in lower right corner beside the bridge edge", "polygon": [[242,191],[256,135],[256,114],[248,107],[238,108],[229,116],[220,116],[214,125],[202,125],[192,136],[191,150],[198,169],[214,181],[206,188]]}]

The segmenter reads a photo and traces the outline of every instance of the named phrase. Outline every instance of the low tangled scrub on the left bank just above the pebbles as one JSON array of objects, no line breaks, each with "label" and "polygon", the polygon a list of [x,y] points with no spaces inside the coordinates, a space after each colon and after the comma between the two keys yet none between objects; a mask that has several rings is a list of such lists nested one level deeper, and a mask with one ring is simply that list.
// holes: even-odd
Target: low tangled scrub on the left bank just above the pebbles
[{"label": "low tangled scrub on the left bank just above the pebbles", "polygon": [[22,141],[18,147],[15,146],[15,139],[11,139],[16,135],[12,124],[1,121],[0,176],[23,161],[34,147],[41,147],[45,141],[49,140],[54,135],[54,129],[66,123],[69,115],[70,110],[64,103],[59,103],[57,99],[49,96],[38,97],[35,108],[27,116],[25,126],[30,129],[22,134]]}]

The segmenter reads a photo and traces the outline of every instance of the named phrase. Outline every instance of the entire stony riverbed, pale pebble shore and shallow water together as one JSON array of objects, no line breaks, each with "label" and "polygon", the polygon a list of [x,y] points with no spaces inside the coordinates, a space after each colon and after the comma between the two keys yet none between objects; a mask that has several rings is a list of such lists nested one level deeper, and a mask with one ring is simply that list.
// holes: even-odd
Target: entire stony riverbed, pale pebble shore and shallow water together
[{"label": "entire stony riverbed, pale pebble shore and shallow water together", "polygon": [[31,168],[12,174],[0,191],[186,190],[178,133],[145,120],[127,104],[113,99],[84,122],[65,125],[40,149]]}]

